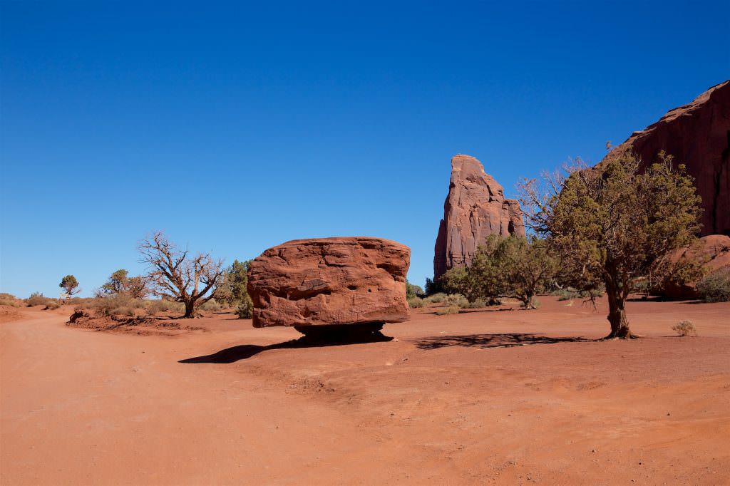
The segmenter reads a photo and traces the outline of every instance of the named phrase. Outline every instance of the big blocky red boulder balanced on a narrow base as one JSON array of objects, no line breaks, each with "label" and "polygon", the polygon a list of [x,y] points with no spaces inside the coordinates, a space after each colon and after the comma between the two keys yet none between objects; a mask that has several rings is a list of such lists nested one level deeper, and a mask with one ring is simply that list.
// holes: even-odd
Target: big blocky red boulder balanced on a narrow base
[{"label": "big blocky red boulder balanced on a narrow base", "polygon": [[253,325],[401,323],[410,248],[353,236],[296,239],[250,263]]}]

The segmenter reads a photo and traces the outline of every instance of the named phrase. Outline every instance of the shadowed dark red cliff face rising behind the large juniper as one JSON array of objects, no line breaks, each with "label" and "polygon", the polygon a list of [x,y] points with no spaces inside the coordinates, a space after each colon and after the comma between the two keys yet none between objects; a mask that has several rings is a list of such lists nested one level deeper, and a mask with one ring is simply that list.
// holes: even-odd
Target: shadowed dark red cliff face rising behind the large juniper
[{"label": "shadowed dark red cliff face rising behind the large juniper", "polygon": [[702,235],[730,235],[730,81],[632,134],[606,158],[634,150],[645,168],[660,150],[674,155],[702,196]]}]

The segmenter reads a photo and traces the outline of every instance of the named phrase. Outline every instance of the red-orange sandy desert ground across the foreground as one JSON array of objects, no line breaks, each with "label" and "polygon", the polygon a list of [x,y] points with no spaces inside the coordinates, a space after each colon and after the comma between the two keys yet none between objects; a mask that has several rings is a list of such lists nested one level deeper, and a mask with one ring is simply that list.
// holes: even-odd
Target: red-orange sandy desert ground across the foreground
[{"label": "red-orange sandy desert ground across the foreground", "polygon": [[[645,339],[575,342],[607,333],[604,302],[541,300],[331,347],[231,315],[135,336],[23,309],[0,325],[0,482],[730,482],[730,304],[631,302]],[[699,337],[674,336],[685,318]]]}]

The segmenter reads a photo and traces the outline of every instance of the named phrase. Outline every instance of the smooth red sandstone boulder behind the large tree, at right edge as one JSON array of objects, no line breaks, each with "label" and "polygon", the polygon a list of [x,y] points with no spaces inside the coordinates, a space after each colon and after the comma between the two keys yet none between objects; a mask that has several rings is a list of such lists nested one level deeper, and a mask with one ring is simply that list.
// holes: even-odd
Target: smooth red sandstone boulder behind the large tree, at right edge
[{"label": "smooth red sandstone boulder behind the large tree, at right edge", "polygon": [[[704,236],[691,247],[678,248],[669,253],[669,261],[675,264],[687,260],[702,263],[706,274],[723,268],[730,269],[730,236],[722,234]],[[676,300],[698,298],[695,284],[696,282],[687,282],[683,285],[666,282],[661,293]]]}]

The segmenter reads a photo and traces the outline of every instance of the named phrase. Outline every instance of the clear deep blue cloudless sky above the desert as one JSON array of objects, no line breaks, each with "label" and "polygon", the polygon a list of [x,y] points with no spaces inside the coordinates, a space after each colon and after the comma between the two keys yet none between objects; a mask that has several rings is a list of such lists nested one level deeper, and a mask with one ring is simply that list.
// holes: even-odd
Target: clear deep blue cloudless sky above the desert
[{"label": "clear deep blue cloudless sky above the desert", "polygon": [[2,1],[0,291],[91,295],[153,229],[382,236],[432,274],[450,158],[515,195],[730,77],[727,1]]}]

